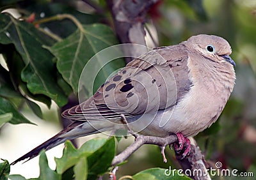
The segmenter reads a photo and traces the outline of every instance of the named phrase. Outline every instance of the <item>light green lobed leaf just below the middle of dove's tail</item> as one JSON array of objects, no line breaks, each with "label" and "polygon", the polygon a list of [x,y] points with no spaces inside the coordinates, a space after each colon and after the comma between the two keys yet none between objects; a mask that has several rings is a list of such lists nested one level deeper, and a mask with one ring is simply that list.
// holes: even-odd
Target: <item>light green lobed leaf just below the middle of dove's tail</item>
[{"label": "light green lobed leaf just below the middle of dove's tail", "polygon": [[79,153],[79,151],[77,151],[72,142],[67,140],[65,142],[63,156],[61,158],[55,158],[56,171],[58,172],[58,174],[63,174],[65,170],[76,165],[76,163],[79,161],[80,155],[81,154]]}]

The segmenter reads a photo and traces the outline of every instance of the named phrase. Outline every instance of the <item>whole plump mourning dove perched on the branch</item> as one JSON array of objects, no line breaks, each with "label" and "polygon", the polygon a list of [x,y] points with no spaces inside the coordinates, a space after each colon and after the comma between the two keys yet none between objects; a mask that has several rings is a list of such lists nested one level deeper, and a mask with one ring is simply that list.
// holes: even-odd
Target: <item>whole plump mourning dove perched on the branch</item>
[{"label": "whole plump mourning dove perched on the branch", "polygon": [[236,64],[231,52],[223,38],[200,34],[134,59],[91,98],[63,112],[74,123],[12,164],[68,139],[124,128],[121,114],[136,133],[175,133],[179,143],[189,144],[186,137],[211,126],[232,93]]}]

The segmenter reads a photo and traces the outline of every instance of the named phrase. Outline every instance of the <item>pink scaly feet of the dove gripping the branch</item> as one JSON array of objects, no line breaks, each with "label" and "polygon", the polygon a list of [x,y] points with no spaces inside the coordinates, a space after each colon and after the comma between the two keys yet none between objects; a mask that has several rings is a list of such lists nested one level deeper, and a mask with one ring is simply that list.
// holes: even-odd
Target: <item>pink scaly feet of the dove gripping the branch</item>
[{"label": "pink scaly feet of the dove gripping the branch", "polygon": [[188,137],[184,137],[182,133],[177,133],[178,143],[173,145],[173,148],[176,152],[184,151],[182,154],[182,159],[189,155],[191,150],[191,144]]}]

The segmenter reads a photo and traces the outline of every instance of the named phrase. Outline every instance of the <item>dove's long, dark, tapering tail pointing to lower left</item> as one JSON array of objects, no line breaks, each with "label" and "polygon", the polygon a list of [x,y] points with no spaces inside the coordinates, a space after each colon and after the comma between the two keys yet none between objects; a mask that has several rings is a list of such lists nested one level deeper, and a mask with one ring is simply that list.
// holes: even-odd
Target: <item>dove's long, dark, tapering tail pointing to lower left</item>
[{"label": "dove's long, dark, tapering tail pointing to lower left", "polygon": [[45,141],[43,144],[35,147],[35,149],[32,149],[27,154],[24,154],[24,156],[21,156],[19,159],[13,161],[11,165],[15,165],[15,163],[26,160],[27,158],[28,160],[35,158],[35,156],[38,156],[42,149],[45,149],[45,151],[47,151],[49,149],[52,149],[52,147],[58,146],[59,144],[65,142],[66,140],[76,139],[77,137],[91,135],[94,133],[99,133],[99,131],[95,130],[95,128],[93,128],[90,123],[86,121],[75,121],[67,128],[54,135],[54,137],[52,137],[51,139]]}]

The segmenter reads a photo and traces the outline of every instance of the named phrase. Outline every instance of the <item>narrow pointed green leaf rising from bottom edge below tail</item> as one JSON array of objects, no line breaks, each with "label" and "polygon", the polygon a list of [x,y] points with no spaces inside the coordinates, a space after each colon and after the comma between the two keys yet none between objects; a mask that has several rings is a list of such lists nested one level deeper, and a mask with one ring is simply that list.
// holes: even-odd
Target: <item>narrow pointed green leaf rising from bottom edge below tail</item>
[{"label": "narrow pointed green leaf rising from bottom edge below tail", "polygon": [[40,153],[39,165],[40,165],[40,176],[38,177],[38,180],[61,179],[60,174],[57,174],[54,170],[51,170],[49,168],[45,151],[42,151]]}]

